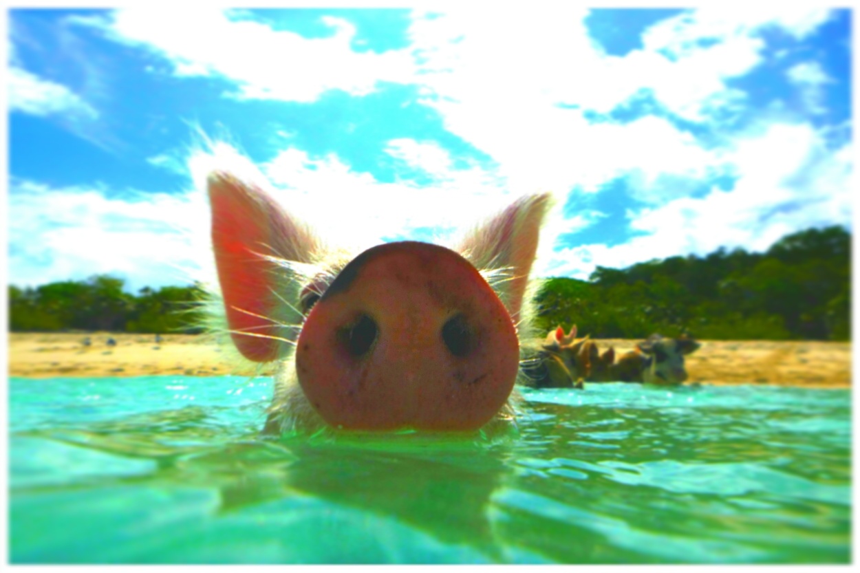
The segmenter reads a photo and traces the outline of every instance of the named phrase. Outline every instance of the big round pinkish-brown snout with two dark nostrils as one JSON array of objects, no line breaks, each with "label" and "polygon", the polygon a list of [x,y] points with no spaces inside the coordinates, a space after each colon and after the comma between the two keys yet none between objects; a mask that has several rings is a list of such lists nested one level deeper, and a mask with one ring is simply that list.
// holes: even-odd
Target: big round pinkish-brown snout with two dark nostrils
[{"label": "big round pinkish-brown snout with two dark nostrils", "polygon": [[316,302],[295,360],[305,396],[332,426],[470,430],[507,402],[519,342],[463,256],[385,243],[347,264]]}]

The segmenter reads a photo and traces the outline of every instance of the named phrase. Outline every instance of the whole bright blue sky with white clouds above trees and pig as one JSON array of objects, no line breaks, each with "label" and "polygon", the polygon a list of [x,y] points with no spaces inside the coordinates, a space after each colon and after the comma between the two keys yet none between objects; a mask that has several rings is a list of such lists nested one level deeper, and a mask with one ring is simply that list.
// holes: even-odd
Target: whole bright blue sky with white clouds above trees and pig
[{"label": "whole bright blue sky with white clouds above trees and pig", "polygon": [[9,282],[211,267],[200,133],[355,248],[550,191],[543,276],[851,226],[847,10],[179,6],[10,10]]}]

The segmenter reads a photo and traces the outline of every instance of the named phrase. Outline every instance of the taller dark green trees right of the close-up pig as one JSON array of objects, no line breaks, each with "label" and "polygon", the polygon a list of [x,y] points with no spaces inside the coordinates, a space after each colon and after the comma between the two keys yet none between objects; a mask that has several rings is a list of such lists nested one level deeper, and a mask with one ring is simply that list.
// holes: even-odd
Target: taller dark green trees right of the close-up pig
[{"label": "taller dark green trees right of the close-up pig", "polygon": [[575,323],[595,338],[851,339],[851,234],[841,226],[783,237],[765,253],[721,248],[598,267],[589,279],[546,281],[539,332]]}]

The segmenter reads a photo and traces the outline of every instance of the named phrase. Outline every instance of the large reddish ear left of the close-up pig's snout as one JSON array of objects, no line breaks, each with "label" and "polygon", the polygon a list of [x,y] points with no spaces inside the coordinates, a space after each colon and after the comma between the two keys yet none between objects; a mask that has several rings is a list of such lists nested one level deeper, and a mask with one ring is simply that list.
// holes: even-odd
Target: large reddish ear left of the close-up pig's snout
[{"label": "large reddish ear left of the close-up pig's snout", "polygon": [[212,248],[233,343],[249,360],[275,360],[295,339],[298,300],[289,269],[268,257],[310,262],[319,242],[253,183],[215,171],[207,179]]}]

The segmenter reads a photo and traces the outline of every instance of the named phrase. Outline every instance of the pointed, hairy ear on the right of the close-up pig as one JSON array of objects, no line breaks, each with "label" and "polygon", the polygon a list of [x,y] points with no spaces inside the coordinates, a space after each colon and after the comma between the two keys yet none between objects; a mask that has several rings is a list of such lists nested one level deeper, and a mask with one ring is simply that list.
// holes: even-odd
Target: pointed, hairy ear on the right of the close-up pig
[{"label": "pointed, hairy ear on the right of the close-up pig", "polygon": [[494,289],[514,323],[519,323],[540,227],[549,208],[550,194],[526,195],[472,231],[458,246],[478,270],[507,269],[507,280],[496,282]]}]

